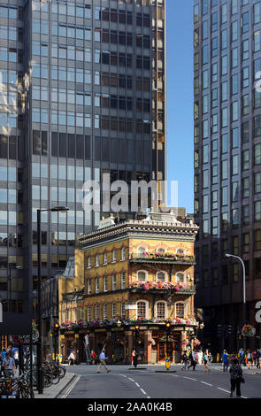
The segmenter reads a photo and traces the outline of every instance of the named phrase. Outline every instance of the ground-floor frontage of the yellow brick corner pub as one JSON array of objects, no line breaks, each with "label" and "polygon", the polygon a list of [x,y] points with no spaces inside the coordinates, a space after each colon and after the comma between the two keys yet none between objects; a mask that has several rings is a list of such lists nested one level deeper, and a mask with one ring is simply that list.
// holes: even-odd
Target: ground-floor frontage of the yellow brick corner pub
[{"label": "ground-floor frontage of the yellow brick corner pub", "polygon": [[59,335],[59,353],[63,362],[74,351],[76,362],[87,361],[84,337],[88,334],[89,350],[95,351],[97,358],[105,347],[108,364],[130,364],[135,350],[139,364],[157,364],[170,357],[173,363],[179,363],[181,352],[193,348],[191,335],[195,326],[171,326],[166,335],[165,325],[139,326],[139,335],[135,336],[135,327],[86,327],[63,328]]}]

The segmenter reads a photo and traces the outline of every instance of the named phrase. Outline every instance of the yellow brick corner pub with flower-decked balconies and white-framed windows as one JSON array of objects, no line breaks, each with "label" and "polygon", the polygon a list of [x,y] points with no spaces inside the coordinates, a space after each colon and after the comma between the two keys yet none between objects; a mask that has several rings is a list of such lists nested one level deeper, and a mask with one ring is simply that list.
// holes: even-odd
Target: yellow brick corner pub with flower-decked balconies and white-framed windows
[{"label": "yellow brick corner pub with flower-decked balconies and white-framed windows", "polygon": [[[180,361],[198,327],[197,231],[192,219],[151,212],[145,220],[102,220],[96,231],[79,238],[75,263],[83,266],[77,269],[84,273],[83,316],[78,322],[63,321],[61,334],[75,338],[80,361],[86,333],[90,349],[99,354],[105,346],[111,363],[129,363],[134,349],[141,363],[164,361],[166,352],[173,362]],[[171,324],[168,340],[166,321]]]}]

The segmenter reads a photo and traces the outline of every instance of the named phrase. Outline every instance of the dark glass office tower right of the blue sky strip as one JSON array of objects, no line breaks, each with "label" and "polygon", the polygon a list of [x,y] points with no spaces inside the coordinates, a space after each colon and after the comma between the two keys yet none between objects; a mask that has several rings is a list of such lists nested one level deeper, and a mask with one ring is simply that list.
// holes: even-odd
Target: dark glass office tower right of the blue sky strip
[{"label": "dark glass office tower right of the blue sky strip", "polygon": [[196,305],[205,341],[235,348],[242,265],[226,253],[244,261],[247,320],[260,334],[261,2],[195,0],[194,24]]}]

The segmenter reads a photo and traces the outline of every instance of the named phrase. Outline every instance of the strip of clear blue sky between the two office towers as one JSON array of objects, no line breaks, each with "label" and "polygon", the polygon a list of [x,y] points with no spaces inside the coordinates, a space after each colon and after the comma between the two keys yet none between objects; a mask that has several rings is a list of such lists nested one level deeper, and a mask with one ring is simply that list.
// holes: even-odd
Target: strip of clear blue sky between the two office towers
[{"label": "strip of clear blue sky between the two office towers", "polygon": [[194,212],[192,10],[192,0],[166,0],[167,180],[179,181],[187,212]]}]

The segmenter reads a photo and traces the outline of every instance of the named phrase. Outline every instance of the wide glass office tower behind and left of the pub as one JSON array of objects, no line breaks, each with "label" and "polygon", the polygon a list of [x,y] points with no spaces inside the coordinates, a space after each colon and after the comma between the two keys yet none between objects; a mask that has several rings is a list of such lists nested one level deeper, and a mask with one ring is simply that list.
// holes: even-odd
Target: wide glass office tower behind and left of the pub
[{"label": "wide glass office tower behind and left of the pub", "polygon": [[6,330],[36,289],[37,208],[70,209],[42,212],[44,279],[99,224],[84,181],[165,179],[165,0],[1,0],[0,87]]}]

